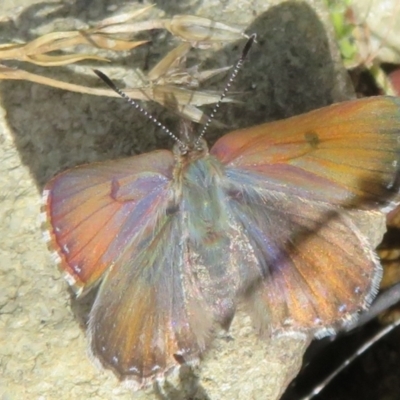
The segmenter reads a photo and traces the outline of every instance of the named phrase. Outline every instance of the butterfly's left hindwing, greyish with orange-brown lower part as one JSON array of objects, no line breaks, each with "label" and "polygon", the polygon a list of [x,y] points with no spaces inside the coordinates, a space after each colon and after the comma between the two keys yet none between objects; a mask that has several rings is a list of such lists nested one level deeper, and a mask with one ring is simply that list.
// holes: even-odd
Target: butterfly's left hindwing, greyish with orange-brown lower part
[{"label": "butterfly's left hindwing, greyish with orange-brown lower part", "polygon": [[106,274],[90,314],[94,356],[139,384],[171,369],[176,355],[197,359],[213,323],[187,263],[181,219],[163,211]]}]

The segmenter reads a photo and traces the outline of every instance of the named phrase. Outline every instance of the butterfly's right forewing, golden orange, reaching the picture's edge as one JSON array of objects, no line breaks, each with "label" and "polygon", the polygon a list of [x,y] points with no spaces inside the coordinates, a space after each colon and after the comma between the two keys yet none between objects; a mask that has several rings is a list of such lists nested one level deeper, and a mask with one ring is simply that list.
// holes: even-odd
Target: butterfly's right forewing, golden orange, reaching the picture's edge
[{"label": "butterfly's right forewing, golden orange, reaching the picture's edge", "polygon": [[400,99],[371,97],[225,135],[211,154],[269,187],[340,207],[398,201]]}]

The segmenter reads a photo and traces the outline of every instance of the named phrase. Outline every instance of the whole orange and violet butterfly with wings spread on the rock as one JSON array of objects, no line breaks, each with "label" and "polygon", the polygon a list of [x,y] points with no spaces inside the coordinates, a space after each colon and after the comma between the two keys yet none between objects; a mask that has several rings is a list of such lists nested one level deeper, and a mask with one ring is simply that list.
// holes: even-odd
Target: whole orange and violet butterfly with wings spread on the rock
[{"label": "whole orange and violet butterfly with wings spread on the rock", "polygon": [[173,151],[57,175],[45,238],[78,294],[99,285],[93,356],[143,385],[197,360],[239,302],[261,333],[346,325],[381,277],[350,213],[399,202],[399,161],[400,99],[382,96],[237,130],[210,150],[185,131]]}]

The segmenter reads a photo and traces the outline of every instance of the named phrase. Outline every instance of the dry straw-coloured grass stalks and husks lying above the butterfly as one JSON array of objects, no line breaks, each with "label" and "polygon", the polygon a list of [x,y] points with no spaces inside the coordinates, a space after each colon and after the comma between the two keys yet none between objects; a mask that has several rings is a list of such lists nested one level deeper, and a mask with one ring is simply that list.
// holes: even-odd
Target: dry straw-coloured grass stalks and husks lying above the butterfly
[{"label": "dry straw-coloured grass stalks and husks lying above the butterfly", "polygon": [[[73,64],[82,60],[104,62],[108,60],[102,56],[92,54],[89,51],[78,53],[74,51],[74,48],[79,45],[86,45],[89,50],[101,48],[129,51],[147,42],[132,40],[132,34],[148,29],[168,29],[184,42],[171,50],[153,67],[146,77],[148,85],[123,90],[133,99],[156,101],[192,121],[200,122],[204,120],[205,115],[197,107],[218,102],[220,94],[187,88],[198,88],[200,82],[218,73],[225,72],[230,67],[208,71],[199,71],[198,66],[187,68],[187,53],[193,46],[209,47],[210,44],[237,40],[245,35],[237,28],[190,15],[177,15],[171,19],[130,22],[151,7],[143,7],[133,12],[104,19],[89,29],[51,32],[28,43],[0,44],[0,63],[3,60],[17,60],[45,67],[54,67]],[[69,52],[66,53],[67,50]],[[0,79],[26,80],[62,90],[96,96],[117,96],[115,92],[108,89],[67,83],[30,73],[20,68],[9,68],[2,64],[0,64]],[[224,101],[233,100],[224,99]]]}]

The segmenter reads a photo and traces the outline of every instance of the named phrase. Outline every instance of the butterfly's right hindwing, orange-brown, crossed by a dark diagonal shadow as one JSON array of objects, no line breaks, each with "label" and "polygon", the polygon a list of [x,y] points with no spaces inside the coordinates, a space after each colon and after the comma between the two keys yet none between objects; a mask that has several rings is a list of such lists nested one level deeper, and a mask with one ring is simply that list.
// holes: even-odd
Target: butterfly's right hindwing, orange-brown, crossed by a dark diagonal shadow
[{"label": "butterfly's right hindwing, orange-brown, crossed by a dark diagonal shadow", "polygon": [[347,211],[256,186],[249,174],[231,178],[228,206],[259,276],[243,298],[263,332],[323,336],[369,305],[381,268]]}]

